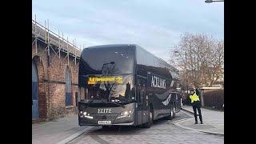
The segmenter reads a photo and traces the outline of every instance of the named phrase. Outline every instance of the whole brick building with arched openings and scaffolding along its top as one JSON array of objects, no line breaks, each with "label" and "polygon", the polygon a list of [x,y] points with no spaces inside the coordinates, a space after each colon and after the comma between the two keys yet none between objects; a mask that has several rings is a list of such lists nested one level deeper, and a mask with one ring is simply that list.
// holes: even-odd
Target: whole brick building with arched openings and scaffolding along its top
[{"label": "whole brick building with arched openings and scaffolding along its top", "polygon": [[77,110],[81,49],[32,20],[32,122]]}]

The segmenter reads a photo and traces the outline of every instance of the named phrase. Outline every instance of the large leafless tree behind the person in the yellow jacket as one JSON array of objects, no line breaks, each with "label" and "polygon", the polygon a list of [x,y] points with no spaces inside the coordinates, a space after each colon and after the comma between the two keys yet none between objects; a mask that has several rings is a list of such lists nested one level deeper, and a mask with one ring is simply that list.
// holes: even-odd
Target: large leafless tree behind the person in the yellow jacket
[{"label": "large leafless tree behind the person in the yellow jacket", "polygon": [[206,34],[182,34],[170,51],[170,63],[186,75],[181,77],[182,84],[187,81],[194,87],[213,86],[223,74],[224,42]]}]

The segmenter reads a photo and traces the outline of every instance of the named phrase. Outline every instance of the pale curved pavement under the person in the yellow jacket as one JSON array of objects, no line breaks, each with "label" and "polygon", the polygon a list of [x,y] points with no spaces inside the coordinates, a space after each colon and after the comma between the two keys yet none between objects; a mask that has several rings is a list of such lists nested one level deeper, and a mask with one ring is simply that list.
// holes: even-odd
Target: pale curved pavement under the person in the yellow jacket
[{"label": "pale curved pavement under the person in the yellow jacket", "polygon": [[192,106],[182,106],[182,110],[190,113],[193,118],[188,118],[179,122],[175,122],[174,125],[181,126],[190,130],[198,130],[201,132],[209,134],[222,134],[224,135],[224,112],[207,110],[201,108],[202,121],[203,124],[200,124],[198,117],[198,124],[194,124],[194,111]]}]

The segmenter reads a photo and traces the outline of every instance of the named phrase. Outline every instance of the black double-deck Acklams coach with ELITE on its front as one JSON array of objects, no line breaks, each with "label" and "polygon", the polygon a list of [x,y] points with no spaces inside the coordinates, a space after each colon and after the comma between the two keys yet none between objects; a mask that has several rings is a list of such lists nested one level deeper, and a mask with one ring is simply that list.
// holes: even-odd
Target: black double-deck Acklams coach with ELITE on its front
[{"label": "black double-deck Acklams coach with ELITE on its front", "polygon": [[90,46],[78,72],[79,126],[144,126],[181,110],[178,70],[138,45]]}]

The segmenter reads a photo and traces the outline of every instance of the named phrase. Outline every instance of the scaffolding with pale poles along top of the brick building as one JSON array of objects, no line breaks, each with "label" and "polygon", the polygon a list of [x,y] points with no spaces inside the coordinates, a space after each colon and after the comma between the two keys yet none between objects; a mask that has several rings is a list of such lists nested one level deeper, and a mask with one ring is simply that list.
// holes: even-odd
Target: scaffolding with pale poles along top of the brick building
[{"label": "scaffolding with pale poles along top of the brick building", "polygon": [[[46,44],[46,48],[40,54],[38,52],[38,41]],[[64,38],[63,32],[62,36],[60,36],[59,31],[58,34],[55,34],[49,29],[49,20],[47,20],[47,27],[46,21],[45,26],[39,24],[37,22],[36,15],[34,16],[34,20],[32,18],[32,46],[33,45],[35,46],[35,53],[40,58],[40,62],[42,61],[42,55],[47,53],[48,66],[50,66],[51,63],[50,50],[54,51],[54,58],[58,57],[60,59],[61,66],[69,66],[70,61],[74,62],[74,65],[77,65],[79,63],[78,60],[80,59],[80,54],[82,52],[81,45],[80,48],[76,46],[76,39],[73,39],[73,43],[70,43],[68,37],[66,37],[66,39]],[[62,60],[61,52],[66,54],[65,58]],[[65,63],[66,59],[67,61]]]}]

